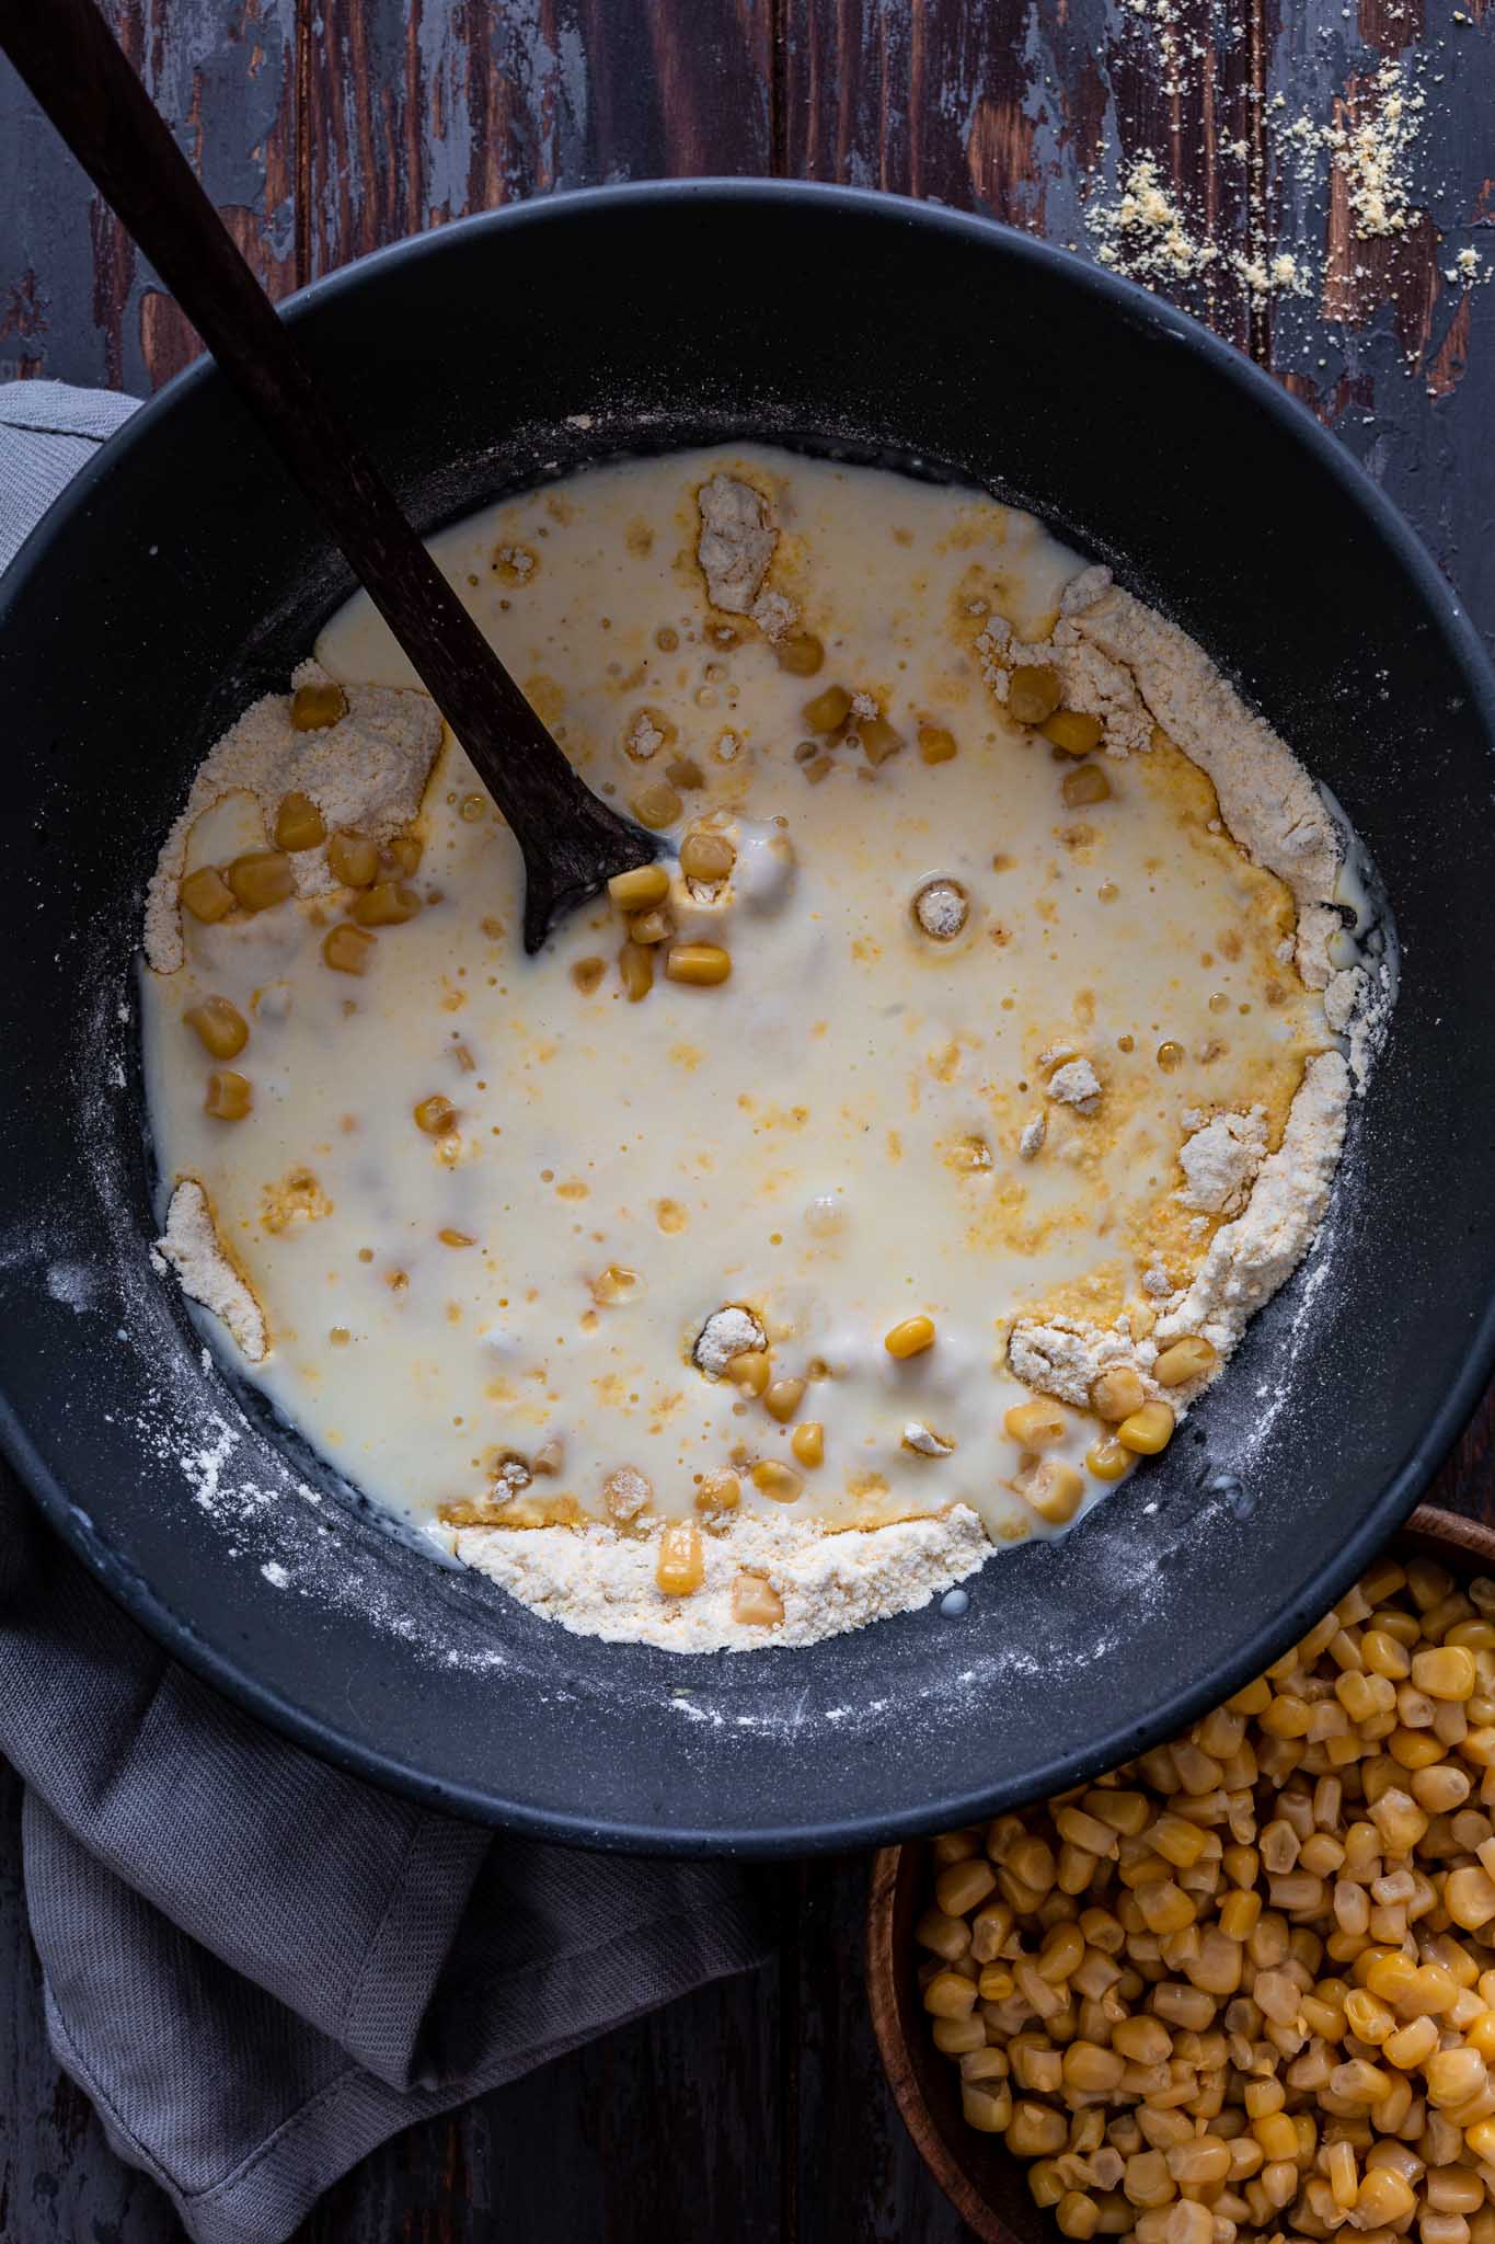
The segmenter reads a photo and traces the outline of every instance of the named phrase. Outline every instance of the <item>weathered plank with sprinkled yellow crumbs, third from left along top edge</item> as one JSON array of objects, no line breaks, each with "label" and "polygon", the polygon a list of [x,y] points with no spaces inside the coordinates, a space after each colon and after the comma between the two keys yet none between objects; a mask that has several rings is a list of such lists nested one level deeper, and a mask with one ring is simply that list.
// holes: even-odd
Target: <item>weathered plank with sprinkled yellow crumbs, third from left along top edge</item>
[{"label": "weathered plank with sprinkled yellow crumbs, third from left along top edge", "polygon": [[[784,168],[1107,258],[1145,242],[1154,280],[1244,343],[1251,83],[1228,0],[784,0]],[[1168,249],[1139,197],[1177,213]]]}]

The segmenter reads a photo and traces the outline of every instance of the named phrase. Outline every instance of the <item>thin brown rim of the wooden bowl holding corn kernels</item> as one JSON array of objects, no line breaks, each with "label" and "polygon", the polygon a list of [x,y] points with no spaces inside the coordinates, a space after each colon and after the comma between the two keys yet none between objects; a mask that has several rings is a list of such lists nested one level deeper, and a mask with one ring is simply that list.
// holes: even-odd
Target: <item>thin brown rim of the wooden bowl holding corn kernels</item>
[{"label": "thin brown rim of the wooden bowl holding corn kernels", "polygon": [[[1432,1548],[1459,1566],[1468,1566],[1473,1560],[1495,1569],[1495,1528],[1484,1526],[1479,1519],[1464,1519],[1459,1512],[1446,1512],[1432,1503],[1421,1503],[1408,1524],[1396,1530],[1387,1548],[1399,1544],[1403,1537],[1414,1537],[1423,1548]],[[872,1863],[865,1966],[867,2006],[872,2011],[872,2031],[876,2033],[879,2058],[919,2156],[966,2226],[982,2237],[982,2244],[1033,2244],[1031,2235],[1020,2235],[1009,2228],[995,2206],[973,2181],[964,2159],[941,2132],[939,2121],[935,2118],[935,2112],[923,2094],[923,2085],[908,2047],[908,2035],[903,2033],[903,2017],[899,2011],[901,1957],[894,1950],[894,1903],[903,1860],[912,1847],[921,1845],[923,1840],[908,1840],[899,1847],[881,1847]],[[973,2141],[984,2139],[973,2136]],[[1053,2233],[1058,2235],[1058,2231]]]}]

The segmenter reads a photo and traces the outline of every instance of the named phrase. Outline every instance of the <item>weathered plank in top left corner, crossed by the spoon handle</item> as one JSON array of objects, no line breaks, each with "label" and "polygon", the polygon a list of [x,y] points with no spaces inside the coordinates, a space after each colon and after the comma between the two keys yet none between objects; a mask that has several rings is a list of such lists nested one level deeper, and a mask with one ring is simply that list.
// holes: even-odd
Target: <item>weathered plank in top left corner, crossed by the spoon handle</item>
[{"label": "weathered plank in top left corner, crossed by the spoon handle", "polygon": [[[271,289],[296,287],[296,0],[108,0],[126,52]],[[0,63],[0,379],[146,393],[197,339]]]}]

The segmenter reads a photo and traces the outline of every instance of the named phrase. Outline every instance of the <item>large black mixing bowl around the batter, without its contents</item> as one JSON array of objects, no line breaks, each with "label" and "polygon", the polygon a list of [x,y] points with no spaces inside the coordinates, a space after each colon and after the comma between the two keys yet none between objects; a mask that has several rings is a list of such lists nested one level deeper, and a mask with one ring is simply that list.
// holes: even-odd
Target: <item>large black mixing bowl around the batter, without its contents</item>
[{"label": "large black mixing bowl around the batter, without its contents", "polygon": [[771,184],[572,195],[289,307],[435,527],[726,435],[1047,516],[1228,669],[1347,808],[1403,938],[1331,1221],[1186,1434],[1074,1535],[811,1649],[576,1638],[394,1537],[148,1268],[141,886],[188,772],[347,577],[211,366],[4,579],[4,1438],[137,1618],[305,1744],[619,1847],[841,1847],[1058,1791],[1302,1631],[1412,1508],[1493,1355],[1495,693],[1450,588],[1244,359],[1018,233]]}]

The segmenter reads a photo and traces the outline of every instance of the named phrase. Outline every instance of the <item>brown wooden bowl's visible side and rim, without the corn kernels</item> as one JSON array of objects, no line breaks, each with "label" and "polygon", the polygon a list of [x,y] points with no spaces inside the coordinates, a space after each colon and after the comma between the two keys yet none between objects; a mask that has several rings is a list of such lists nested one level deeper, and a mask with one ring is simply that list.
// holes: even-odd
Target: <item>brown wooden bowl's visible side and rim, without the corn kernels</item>
[{"label": "brown wooden bowl's visible side and rim, without the corn kernels", "polygon": [[[1412,1512],[1394,1548],[1437,1557],[1457,1571],[1475,1564],[1495,1573],[1495,1530],[1430,1506]],[[883,2071],[923,2163],[977,2237],[986,2244],[1053,2244],[1058,2231],[1029,2197],[1027,2161],[1009,2156],[1000,2136],[966,2125],[959,2071],[928,2035],[914,1981],[914,1919],[926,1901],[926,1856],[928,1840],[910,1840],[883,1847],[872,1865],[867,1999]]]}]

